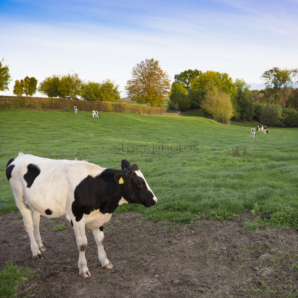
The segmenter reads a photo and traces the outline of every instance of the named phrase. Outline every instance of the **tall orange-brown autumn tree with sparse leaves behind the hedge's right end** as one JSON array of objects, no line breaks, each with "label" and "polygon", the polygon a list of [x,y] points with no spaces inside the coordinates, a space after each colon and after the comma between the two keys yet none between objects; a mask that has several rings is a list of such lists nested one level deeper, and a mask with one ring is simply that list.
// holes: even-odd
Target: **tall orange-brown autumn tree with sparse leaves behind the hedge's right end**
[{"label": "tall orange-brown autumn tree with sparse leaves behind the hedge's right end", "polygon": [[146,59],[137,63],[132,69],[132,78],[127,81],[125,89],[128,97],[137,103],[162,105],[170,96],[170,78],[160,66],[159,61]]}]

